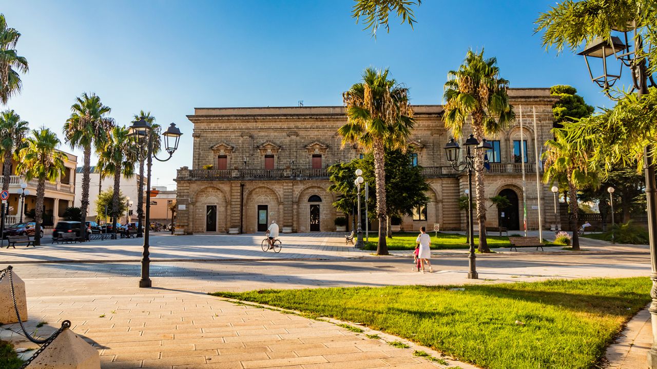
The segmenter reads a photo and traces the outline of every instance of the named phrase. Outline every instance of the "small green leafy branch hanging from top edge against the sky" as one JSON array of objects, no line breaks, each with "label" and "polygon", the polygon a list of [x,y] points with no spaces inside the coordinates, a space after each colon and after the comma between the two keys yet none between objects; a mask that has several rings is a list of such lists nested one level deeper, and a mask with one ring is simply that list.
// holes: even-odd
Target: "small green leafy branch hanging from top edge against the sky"
[{"label": "small green leafy branch hanging from top edge against the sky", "polygon": [[420,6],[421,3],[422,0],[356,0],[351,16],[356,18],[356,23],[359,23],[362,17],[365,24],[363,30],[371,30],[372,37],[376,37],[376,31],[380,26],[386,28],[386,32],[390,32],[388,25],[390,12],[396,13],[401,18],[402,24],[408,23],[413,28],[416,20],[412,7]]}]

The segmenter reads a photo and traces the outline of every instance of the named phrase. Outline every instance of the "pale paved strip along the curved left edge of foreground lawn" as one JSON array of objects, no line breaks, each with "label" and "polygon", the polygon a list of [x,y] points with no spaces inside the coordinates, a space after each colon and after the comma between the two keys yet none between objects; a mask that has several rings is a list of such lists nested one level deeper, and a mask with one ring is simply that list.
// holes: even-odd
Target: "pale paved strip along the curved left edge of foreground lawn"
[{"label": "pale paved strip along the curved left edge of foreground lawn", "polygon": [[[482,369],[480,366],[475,366],[475,365],[469,364],[467,362],[456,360],[455,358],[451,357],[451,355],[449,355],[447,353],[442,353],[441,351],[436,351],[434,349],[431,349],[430,347],[425,347],[425,346],[418,345],[417,343],[415,343],[413,341],[409,341],[408,339],[405,339],[405,338],[393,336],[392,334],[388,334],[386,332],[373,330],[373,329],[371,329],[367,326],[364,326],[362,324],[359,324],[359,323],[346,322],[344,320],[328,318],[327,316],[309,315],[309,314],[304,313],[302,311],[284,309],[284,308],[281,308],[281,307],[275,307],[275,306],[267,305],[267,304],[263,304],[263,303],[256,303],[256,302],[253,302],[253,301],[246,301],[246,300],[233,299],[233,298],[229,298],[229,297],[215,296],[215,295],[212,295],[210,293],[208,293],[208,295],[211,295],[212,297],[215,297],[217,299],[221,299],[223,301],[228,301],[230,303],[234,303],[236,305],[245,305],[245,306],[256,307],[256,308],[260,308],[260,309],[278,311],[278,312],[283,313],[283,314],[294,314],[294,315],[302,316],[304,318],[319,320],[320,322],[328,322],[328,323],[331,323],[331,324],[335,324],[336,326],[340,327],[341,329],[348,330],[348,331],[352,332],[353,334],[355,334],[356,336],[359,336],[359,335],[365,336],[365,335],[376,334],[380,337],[379,338],[380,341],[383,341],[384,343],[386,343],[388,345],[390,345],[391,342],[395,342],[395,341],[396,342],[401,342],[401,343],[404,343],[405,345],[409,346],[409,347],[405,348],[405,350],[409,350],[409,351],[413,351],[413,352],[417,352],[417,351],[422,352],[423,351],[424,353],[427,353],[428,355],[430,355],[430,357],[434,357],[438,360],[446,361],[447,366],[445,366],[444,364],[439,364],[438,362],[435,362],[435,361],[432,361],[432,360],[428,360],[428,359],[423,358],[423,357],[418,357],[418,355],[413,355],[414,357],[419,358],[420,360],[425,360],[427,363],[434,364],[438,368],[441,368],[441,369],[459,369],[459,368],[460,369]],[[344,328],[344,326],[357,327],[357,328],[360,328],[361,330],[363,330],[363,332],[353,332],[352,330],[350,330],[348,328]],[[362,338],[367,339],[367,337],[362,337]]]}]

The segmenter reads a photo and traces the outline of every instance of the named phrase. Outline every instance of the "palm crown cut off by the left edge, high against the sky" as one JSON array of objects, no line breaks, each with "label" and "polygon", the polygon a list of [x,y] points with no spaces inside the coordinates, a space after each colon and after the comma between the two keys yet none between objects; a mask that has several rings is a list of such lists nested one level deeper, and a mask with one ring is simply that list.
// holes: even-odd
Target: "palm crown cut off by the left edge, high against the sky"
[{"label": "palm crown cut off by the left edge, high against the sky", "polygon": [[16,43],[20,33],[7,27],[4,14],[0,14],[0,102],[7,104],[9,98],[20,93],[22,81],[20,73],[27,73],[30,68],[24,56],[18,56]]}]

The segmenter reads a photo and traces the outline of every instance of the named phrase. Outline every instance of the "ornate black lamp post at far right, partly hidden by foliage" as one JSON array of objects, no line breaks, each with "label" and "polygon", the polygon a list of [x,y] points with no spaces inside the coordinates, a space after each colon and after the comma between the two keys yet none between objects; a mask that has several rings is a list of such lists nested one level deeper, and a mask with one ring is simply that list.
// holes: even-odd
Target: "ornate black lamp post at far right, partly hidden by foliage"
[{"label": "ornate black lamp post at far right, partly hidden by foliage", "polygon": [[[609,89],[620,79],[623,66],[629,68],[632,91],[637,91],[637,97],[648,93],[648,81],[650,81],[651,87],[657,85],[654,79],[652,79],[652,76],[648,74],[648,62],[645,56],[641,56],[644,52],[641,28],[642,25],[637,25],[636,21],[619,28],[614,28],[614,32],[620,35],[620,37],[608,35],[608,37],[593,39],[579,53],[586,60],[591,81],[597,83],[602,88],[602,91],[612,100],[618,100],[618,98],[612,96]],[[637,50],[639,51],[639,56],[637,56]],[[612,55],[615,56],[616,60],[620,61],[618,74],[610,74],[607,71],[607,58]],[[591,64],[589,64],[589,58],[599,58],[602,61],[602,75],[594,77]],[[650,265],[652,267],[652,272],[650,273],[650,279],[652,280],[650,297],[652,297],[652,303],[650,303],[649,310],[652,320],[652,336],[655,337],[652,342],[652,348],[648,353],[648,366],[650,368],[657,368],[657,188],[655,183],[654,157],[650,154],[652,150],[652,144],[645,146],[643,151],[643,167],[645,168],[646,177],[648,239],[650,241]]]}]

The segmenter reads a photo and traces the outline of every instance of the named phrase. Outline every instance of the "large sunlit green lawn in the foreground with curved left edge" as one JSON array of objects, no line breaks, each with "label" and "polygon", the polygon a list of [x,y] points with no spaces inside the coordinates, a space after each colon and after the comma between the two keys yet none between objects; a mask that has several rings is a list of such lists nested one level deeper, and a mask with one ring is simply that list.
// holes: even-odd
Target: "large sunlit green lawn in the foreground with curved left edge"
[{"label": "large sunlit green lawn in the foreground with curved left edge", "polygon": [[463,292],[451,287],[214,295],[360,322],[494,369],[595,368],[623,323],[650,301],[648,278],[475,285]]}]

